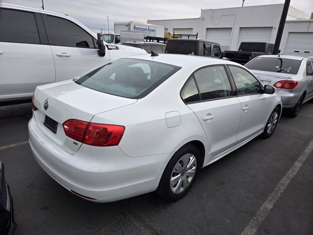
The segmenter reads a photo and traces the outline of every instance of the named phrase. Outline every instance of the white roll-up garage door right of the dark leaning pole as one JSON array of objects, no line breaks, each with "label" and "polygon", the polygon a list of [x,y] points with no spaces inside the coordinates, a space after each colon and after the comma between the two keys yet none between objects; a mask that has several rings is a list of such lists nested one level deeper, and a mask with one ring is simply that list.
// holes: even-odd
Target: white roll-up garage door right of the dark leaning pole
[{"label": "white roll-up garage door right of the dark leaning pole", "polygon": [[313,33],[289,33],[284,54],[313,56]]}]

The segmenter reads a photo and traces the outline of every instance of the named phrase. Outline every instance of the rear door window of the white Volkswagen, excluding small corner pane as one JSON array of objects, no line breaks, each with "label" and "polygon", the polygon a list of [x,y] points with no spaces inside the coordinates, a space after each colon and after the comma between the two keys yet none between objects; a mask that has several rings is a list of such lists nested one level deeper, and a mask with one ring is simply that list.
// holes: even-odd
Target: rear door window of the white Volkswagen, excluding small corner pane
[{"label": "rear door window of the white Volkswagen, excluding small corner pane", "polygon": [[232,96],[232,90],[224,66],[212,66],[194,73],[201,100]]}]

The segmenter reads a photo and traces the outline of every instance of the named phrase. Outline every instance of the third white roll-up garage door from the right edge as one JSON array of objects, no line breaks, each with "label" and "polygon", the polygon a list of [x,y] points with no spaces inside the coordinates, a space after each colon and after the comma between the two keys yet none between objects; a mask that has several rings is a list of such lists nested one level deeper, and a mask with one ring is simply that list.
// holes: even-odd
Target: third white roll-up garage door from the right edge
[{"label": "third white roll-up garage door from the right edge", "polygon": [[207,28],[205,40],[221,45],[222,51],[229,49],[231,28]]}]

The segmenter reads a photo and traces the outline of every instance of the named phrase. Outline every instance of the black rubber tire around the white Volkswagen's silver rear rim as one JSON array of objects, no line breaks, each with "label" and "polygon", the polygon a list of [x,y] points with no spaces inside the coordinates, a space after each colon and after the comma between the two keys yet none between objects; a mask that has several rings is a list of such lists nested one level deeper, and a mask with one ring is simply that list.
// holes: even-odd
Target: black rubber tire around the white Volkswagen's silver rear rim
[{"label": "black rubber tire around the white Volkswagen's silver rear rim", "polygon": [[[195,174],[194,174],[193,178],[191,179],[190,183],[186,184],[187,187],[185,189],[183,189],[183,191],[178,192],[178,193],[174,193],[172,191],[172,189],[171,189],[172,188],[171,186],[173,186],[173,188],[174,188],[174,186],[176,184],[174,184],[174,185],[170,184],[171,177],[173,176],[173,174],[180,175],[179,173],[173,172],[174,171],[174,167],[176,167],[176,165],[179,164],[179,160],[181,160],[181,158],[183,156],[185,156],[186,154],[192,154],[195,157],[195,159],[196,159]],[[193,158],[192,157],[189,158],[189,163],[191,163],[191,159],[193,159]],[[158,187],[156,189],[156,193],[158,195],[160,195],[161,197],[163,197],[165,200],[168,200],[168,201],[177,201],[177,200],[179,200],[184,195],[186,195],[186,193],[193,186],[193,184],[194,184],[194,182],[196,180],[196,177],[198,175],[200,164],[201,164],[201,157],[200,157],[200,152],[199,152],[198,148],[196,146],[194,146],[193,144],[184,145],[183,147],[181,147],[174,154],[174,156],[171,158],[171,160],[169,161],[169,163],[165,167],[165,170],[164,170],[164,172],[162,174],[160,183],[159,183],[159,185],[158,185]],[[187,172],[185,172],[185,173],[186,173],[186,177],[188,177],[187,176]],[[183,175],[183,177],[184,177],[185,173],[182,173],[181,175]],[[181,180],[181,181],[182,181],[182,184],[184,184],[183,183],[184,181],[183,180]],[[179,183],[177,183],[177,184],[179,184]],[[183,187],[181,186],[181,188],[183,188]]]}]

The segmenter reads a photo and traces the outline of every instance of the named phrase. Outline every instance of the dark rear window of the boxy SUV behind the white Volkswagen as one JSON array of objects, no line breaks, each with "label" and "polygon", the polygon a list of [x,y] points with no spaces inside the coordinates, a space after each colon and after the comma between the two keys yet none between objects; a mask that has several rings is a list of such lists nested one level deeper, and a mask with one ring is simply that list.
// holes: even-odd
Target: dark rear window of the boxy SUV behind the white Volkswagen
[{"label": "dark rear window of the boxy SUV behind the white Volkswagen", "polygon": [[167,42],[165,52],[171,54],[195,55],[197,49],[196,42],[169,41]]}]

